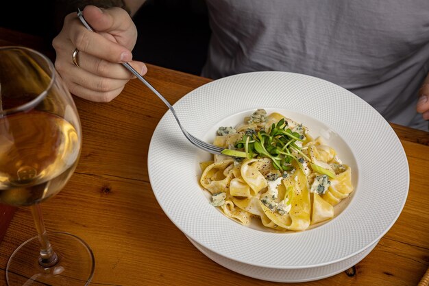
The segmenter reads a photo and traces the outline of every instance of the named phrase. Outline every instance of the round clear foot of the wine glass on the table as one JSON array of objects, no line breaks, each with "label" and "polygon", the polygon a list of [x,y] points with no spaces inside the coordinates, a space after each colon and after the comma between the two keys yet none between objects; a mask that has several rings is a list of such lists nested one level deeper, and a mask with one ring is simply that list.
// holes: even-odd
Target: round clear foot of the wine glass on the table
[{"label": "round clear foot of the wine glass on the table", "polygon": [[88,244],[70,233],[48,233],[58,263],[51,267],[39,264],[38,237],[32,237],[16,248],[6,267],[6,281],[14,285],[89,285],[95,259]]}]

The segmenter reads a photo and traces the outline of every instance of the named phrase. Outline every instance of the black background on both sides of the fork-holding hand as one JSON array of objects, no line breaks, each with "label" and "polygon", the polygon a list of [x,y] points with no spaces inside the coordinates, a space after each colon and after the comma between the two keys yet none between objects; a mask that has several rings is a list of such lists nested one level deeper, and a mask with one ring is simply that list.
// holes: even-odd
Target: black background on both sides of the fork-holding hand
[{"label": "black background on both sides of the fork-holding hand", "polygon": [[[0,27],[40,36],[51,47],[60,32],[54,1],[3,0]],[[138,28],[134,59],[199,75],[210,38],[204,0],[147,0],[133,20]]]}]

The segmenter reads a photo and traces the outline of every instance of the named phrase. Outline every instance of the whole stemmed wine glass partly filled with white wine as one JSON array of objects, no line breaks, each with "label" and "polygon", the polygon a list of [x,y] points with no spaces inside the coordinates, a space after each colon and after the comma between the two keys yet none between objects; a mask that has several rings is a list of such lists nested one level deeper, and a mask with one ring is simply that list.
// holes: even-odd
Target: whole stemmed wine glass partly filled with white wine
[{"label": "whole stemmed wine glass partly filled with white wine", "polygon": [[51,60],[0,47],[0,203],[29,206],[37,236],[6,267],[8,285],[88,285],[94,255],[79,237],[45,230],[40,203],[73,174],[82,147],[77,109]]}]

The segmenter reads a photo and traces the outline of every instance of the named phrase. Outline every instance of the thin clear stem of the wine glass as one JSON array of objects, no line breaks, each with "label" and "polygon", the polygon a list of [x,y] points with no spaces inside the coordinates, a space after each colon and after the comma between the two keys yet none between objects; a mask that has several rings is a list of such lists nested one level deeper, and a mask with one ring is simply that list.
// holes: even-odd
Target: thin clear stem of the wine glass
[{"label": "thin clear stem of the wine glass", "polygon": [[40,243],[40,257],[39,264],[42,267],[51,267],[58,263],[58,256],[53,251],[51,243],[49,242],[48,235],[43,223],[42,208],[40,204],[33,204],[29,207],[32,210],[34,224],[36,224],[37,236]]}]

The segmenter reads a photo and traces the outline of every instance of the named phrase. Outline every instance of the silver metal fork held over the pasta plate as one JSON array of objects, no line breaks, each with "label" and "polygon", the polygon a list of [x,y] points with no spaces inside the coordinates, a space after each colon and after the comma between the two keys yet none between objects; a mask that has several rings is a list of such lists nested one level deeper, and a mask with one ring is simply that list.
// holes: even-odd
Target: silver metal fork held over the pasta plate
[{"label": "silver metal fork held over the pasta plate", "polygon": [[[92,27],[90,27],[90,25],[86,22],[86,20],[84,19],[84,15],[82,14],[82,11],[79,8],[77,9],[77,16],[79,17],[79,20],[84,24],[86,29],[90,30],[91,32],[94,32],[94,29]],[[173,113],[173,116],[174,116],[175,120],[177,121],[177,124],[179,124],[180,130],[182,130],[184,136],[186,137],[186,139],[188,139],[188,141],[190,141],[191,143],[193,143],[193,145],[195,145],[196,147],[199,147],[200,149],[202,149],[204,151],[210,152],[212,154],[221,154],[221,152],[224,148],[212,145],[210,143],[206,143],[204,141],[201,141],[197,137],[193,136],[193,134],[187,132],[183,128],[182,124],[180,123],[180,120],[177,117],[173,106],[171,106],[171,104],[167,101],[167,99],[165,99],[165,97],[163,97],[154,88],[154,86],[149,84],[149,82],[147,82],[147,80],[145,80],[145,78],[143,78],[143,76],[140,75],[140,73],[138,73],[133,67],[131,67],[130,64],[128,64],[127,62],[124,62],[122,65],[128,71],[131,71],[132,74],[136,75],[136,78],[138,78],[141,82],[143,82],[143,84],[145,84],[153,93],[158,95],[158,97],[162,100],[162,102],[164,102],[164,104],[171,110],[171,113]]]}]

